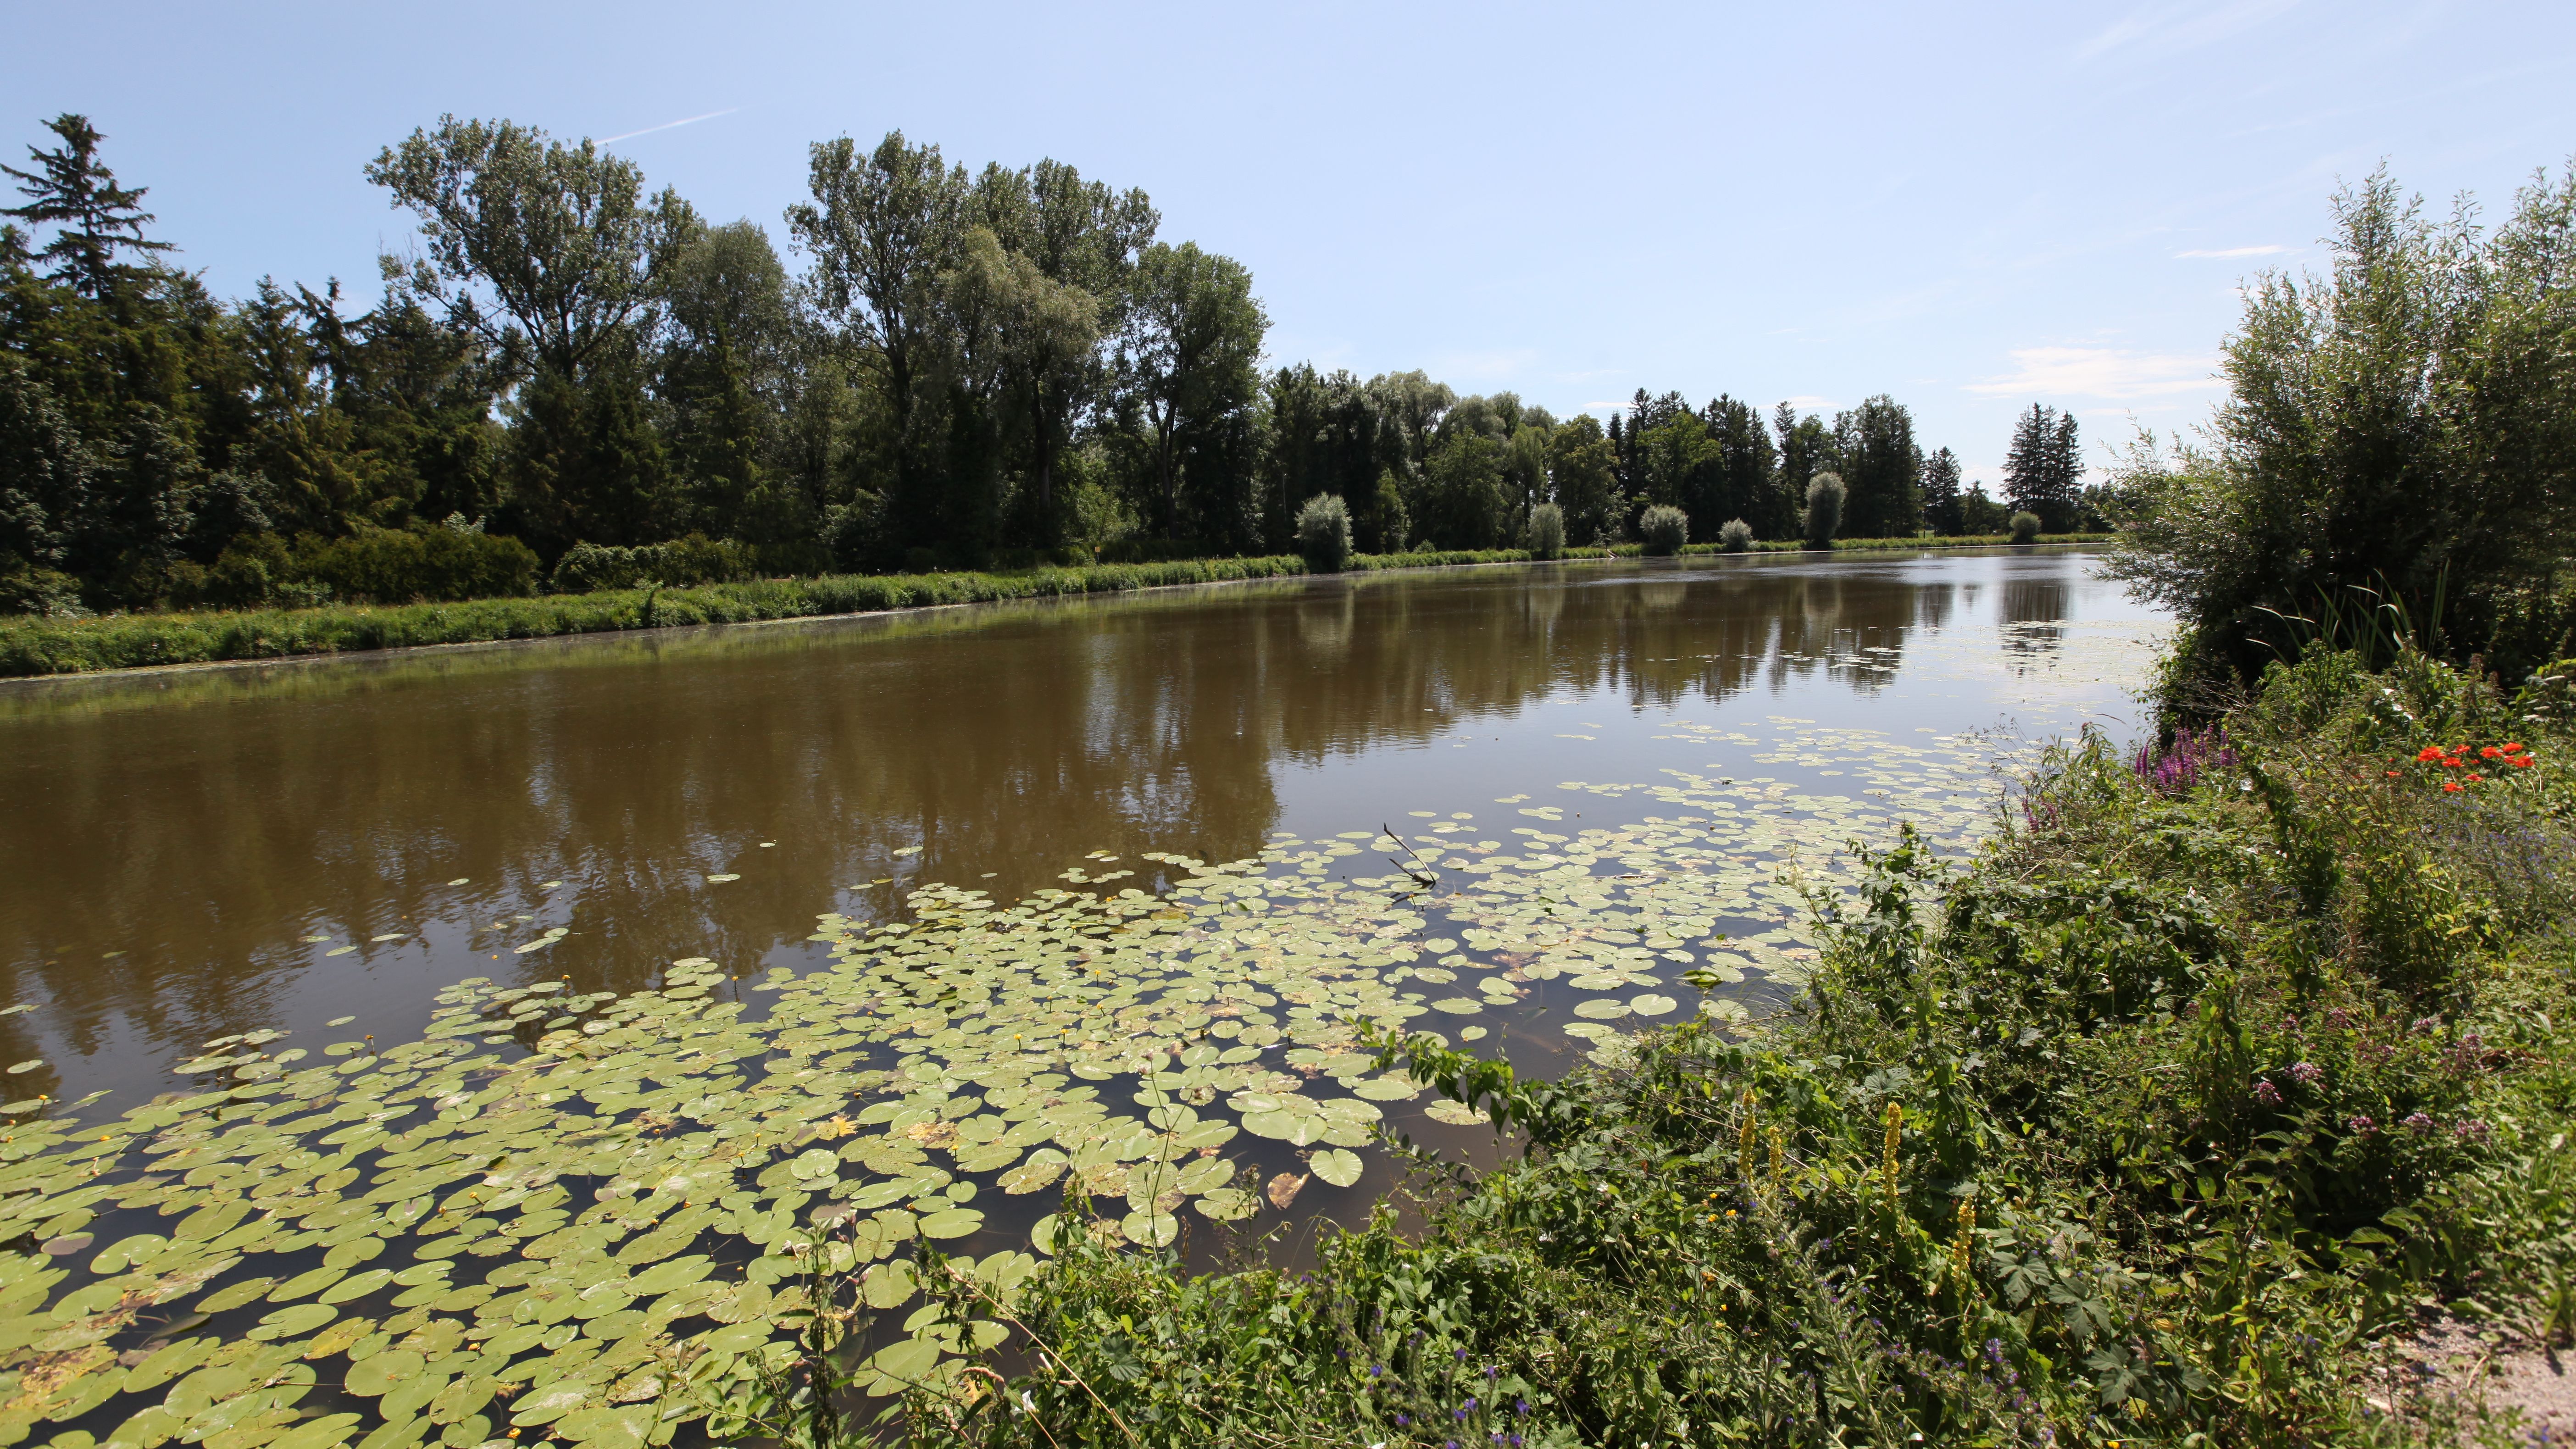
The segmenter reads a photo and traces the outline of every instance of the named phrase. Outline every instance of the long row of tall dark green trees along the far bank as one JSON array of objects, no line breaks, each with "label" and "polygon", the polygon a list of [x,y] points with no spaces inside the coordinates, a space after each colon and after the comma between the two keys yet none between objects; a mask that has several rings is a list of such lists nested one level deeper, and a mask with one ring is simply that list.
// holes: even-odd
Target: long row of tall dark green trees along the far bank
[{"label": "long row of tall dark green trees along the far bank", "polygon": [[417,240],[361,309],[337,284],[211,297],[98,129],[49,129],[0,227],[10,611],[469,598],[672,557],[1265,554],[1321,492],[1365,552],[1515,547],[1540,503],[1571,544],[1654,505],[1785,539],[1816,472],[1847,485],[1844,534],[2099,526],[2048,410],[1996,503],[1888,397],[1819,418],[1641,389],[1605,428],[1419,371],[1262,371],[1252,273],[1054,160],[819,142],[791,268],[592,142],[443,119],[366,168]]}]

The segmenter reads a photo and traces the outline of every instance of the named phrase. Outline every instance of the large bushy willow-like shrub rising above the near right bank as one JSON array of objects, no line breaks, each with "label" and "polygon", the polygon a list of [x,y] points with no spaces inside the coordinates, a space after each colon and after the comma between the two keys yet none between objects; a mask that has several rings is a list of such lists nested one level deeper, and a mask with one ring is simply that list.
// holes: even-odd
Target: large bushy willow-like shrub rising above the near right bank
[{"label": "large bushy willow-like shrub rising above the near right bank", "polygon": [[2251,678],[2362,588],[2455,660],[2509,645],[2519,678],[2553,652],[2524,608],[2576,523],[2576,175],[2491,229],[2465,201],[2427,219],[2385,173],[2334,211],[2324,276],[2246,291],[2213,446],[2138,438],[2115,469],[2138,508],[2117,570],[2182,614],[2202,673]]}]

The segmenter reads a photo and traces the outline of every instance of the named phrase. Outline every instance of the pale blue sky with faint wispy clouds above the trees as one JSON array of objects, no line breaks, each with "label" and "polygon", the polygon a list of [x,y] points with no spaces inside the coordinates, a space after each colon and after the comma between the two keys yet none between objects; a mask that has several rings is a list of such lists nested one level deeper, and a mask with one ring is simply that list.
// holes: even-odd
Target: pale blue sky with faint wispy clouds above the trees
[{"label": "pale blue sky with faint wispy clouds above the trees", "polygon": [[[1275,361],[1558,413],[1888,392],[1994,477],[2012,415],[2208,415],[2236,284],[2378,162],[2491,217],[2576,152],[2576,5],[8,5],[0,147],[82,111],[222,294],[374,289],[358,175],[443,111],[616,150],[711,219],[889,129],[1144,186]],[[690,124],[672,124],[703,116]]]}]

